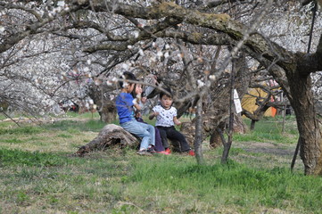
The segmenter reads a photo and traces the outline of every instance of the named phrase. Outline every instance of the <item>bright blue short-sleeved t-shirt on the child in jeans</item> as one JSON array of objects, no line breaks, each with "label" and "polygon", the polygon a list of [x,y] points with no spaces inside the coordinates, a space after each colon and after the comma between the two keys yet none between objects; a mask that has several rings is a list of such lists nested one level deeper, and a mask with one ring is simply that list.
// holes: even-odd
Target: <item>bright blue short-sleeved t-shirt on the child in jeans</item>
[{"label": "bright blue short-sleeved t-shirt on the child in jeans", "polygon": [[116,109],[118,110],[120,124],[134,119],[133,96],[128,93],[120,93],[116,97]]}]

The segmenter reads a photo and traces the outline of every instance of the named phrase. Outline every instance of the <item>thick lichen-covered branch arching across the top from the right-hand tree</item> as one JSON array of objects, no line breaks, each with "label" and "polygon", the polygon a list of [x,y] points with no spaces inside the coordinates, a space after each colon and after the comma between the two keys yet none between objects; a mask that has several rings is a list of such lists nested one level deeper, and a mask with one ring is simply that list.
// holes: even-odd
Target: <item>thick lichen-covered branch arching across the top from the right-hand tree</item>
[{"label": "thick lichen-covered branch arching across the top from the right-hand tree", "polygon": [[[73,4],[88,7],[89,1],[74,0]],[[219,32],[225,32],[229,37],[232,37],[235,40],[243,39],[244,33],[248,29],[242,23],[230,19],[227,14],[213,14],[199,12],[197,10],[188,10],[174,3],[162,3],[146,8],[128,4],[118,4],[116,9],[115,5],[111,4],[111,2],[107,2],[106,4],[97,3],[94,5],[96,11],[106,10],[106,7],[110,10],[113,9],[113,12],[120,15],[146,20],[161,19],[165,17],[181,20],[185,17],[184,21],[186,23],[207,29],[214,29]],[[278,59],[277,64],[286,70],[293,70],[296,67],[296,62],[293,60],[293,53],[285,50],[285,48],[276,43],[269,42],[266,37],[261,36],[259,33],[252,33],[251,37],[248,37],[248,39],[244,41],[244,45],[250,48],[254,53],[261,54],[269,61]]]}]

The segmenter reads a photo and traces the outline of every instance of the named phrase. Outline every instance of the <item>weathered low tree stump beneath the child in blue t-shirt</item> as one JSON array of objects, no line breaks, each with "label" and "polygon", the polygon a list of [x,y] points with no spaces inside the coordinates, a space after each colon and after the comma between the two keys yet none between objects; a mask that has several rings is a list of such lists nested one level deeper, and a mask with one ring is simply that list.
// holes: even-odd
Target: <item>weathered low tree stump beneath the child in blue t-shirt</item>
[{"label": "weathered low tree stump beneath the child in blue t-shirt", "polygon": [[88,152],[103,151],[111,146],[135,148],[138,144],[135,136],[132,136],[120,126],[109,124],[103,127],[98,136],[91,142],[81,146],[74,155],[84,156]]}]

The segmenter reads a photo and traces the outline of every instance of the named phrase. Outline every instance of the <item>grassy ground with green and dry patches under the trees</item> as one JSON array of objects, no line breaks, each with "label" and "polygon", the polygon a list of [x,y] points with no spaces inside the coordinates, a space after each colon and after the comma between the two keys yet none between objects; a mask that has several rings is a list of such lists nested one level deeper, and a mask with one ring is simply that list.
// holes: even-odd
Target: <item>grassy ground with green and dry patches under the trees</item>
[{"label": "grassy ground with green and dry patches under the trees", "polygon": [[[97,115],[42,126],[0,123],[0,213],[322,213],[322,178],[290,162],[294,119],[263,119],[235,135],[227,165],[204,143],[194,157],[130,149],[72,157],[103,128]],[[249,123],[248,120],[245,120]]]}]

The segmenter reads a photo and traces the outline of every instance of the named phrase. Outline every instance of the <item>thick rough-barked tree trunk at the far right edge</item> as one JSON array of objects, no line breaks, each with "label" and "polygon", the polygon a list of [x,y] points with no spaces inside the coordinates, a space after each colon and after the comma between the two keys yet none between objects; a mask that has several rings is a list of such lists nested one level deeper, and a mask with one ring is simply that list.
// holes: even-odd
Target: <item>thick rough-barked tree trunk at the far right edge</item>
[{"label": "thick rough-barked tree trunk at the far right edge", "polygon": [[289,75],[288,79],[293,95],[290,102],[296,115],[300,133],[300,156],[304,164],[304,173],[306,175],[321,174],[322,138],[311,91],[310,75],[303,77],[295,72],[295,75]]}]

